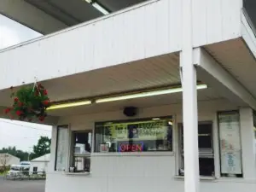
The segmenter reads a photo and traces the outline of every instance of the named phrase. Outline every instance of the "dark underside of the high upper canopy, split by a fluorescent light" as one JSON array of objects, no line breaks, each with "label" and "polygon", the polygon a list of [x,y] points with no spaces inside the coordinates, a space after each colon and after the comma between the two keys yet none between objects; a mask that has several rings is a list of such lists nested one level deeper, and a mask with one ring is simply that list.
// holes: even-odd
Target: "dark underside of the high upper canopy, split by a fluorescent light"
[{"label": "dark underside of the high upper canopy, split by a fluorescent light", "polygon": [[[85,0],[25,0],[45,13],[55,17],[57,20],[65,23],[67,26],[77,25],[81,22],[93,20],[103,14],[95,9]],[[142,3],[147,0],[97,0],[104,8],[110,12],[125,9],[136,3]]]}]

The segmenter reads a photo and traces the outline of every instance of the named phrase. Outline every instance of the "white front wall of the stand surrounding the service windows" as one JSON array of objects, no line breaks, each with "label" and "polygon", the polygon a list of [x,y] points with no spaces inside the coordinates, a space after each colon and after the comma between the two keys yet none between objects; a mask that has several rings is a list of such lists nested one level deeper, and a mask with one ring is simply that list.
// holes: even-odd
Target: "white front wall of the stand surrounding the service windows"
[{"label": "white front wall of the stand surrounding the service windows", "polygon": [[[214,150],[216,175],[219,175],[218,160],[218,123],[217,111],[237,109],[226,100],[199,102],[199,120],[211,120],[214,129]],[[182,121],[182,106],[180,104],[142,108],[136,118],[158,117],[174,114],[176,122]],[[96,113],[73,117],[64,117],[60,125],[70,124],[72,130],[93,129],[94,122],[102,120],[126,119],[121,111]],[[174,127],[176,135],[177,127]],[[246,130],[244,130],[246,131]],[[177,138],[174,137],[174,153],[139,154],[98,154],[91,156],[91,174],[88,176],[65,175],[54,172],[56,129],[52,133],[51,160],[46,182],[46,192],[70,191],[82,192],[166,192],[183,191],[183,180],[175,178],[177,174]],[[246,150],[246,148],[242,148]],[[255,170],[256,171],[256,170]],[[58,184],[61,183],[61,184]],[[256,189],[256,178],[218,178],[213,181],[202,181],[202,192],[236,191],[251,192]]]}]

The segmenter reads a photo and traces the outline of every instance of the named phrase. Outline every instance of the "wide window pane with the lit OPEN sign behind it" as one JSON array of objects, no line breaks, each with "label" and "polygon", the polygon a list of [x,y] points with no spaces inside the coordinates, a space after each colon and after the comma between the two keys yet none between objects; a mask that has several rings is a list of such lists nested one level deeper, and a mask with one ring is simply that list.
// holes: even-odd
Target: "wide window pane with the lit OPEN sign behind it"
[{"label": "wide window pane with the lit OPEN sign behind it", "polygon": [[172,118],[96,123],[95,150],[172,151]]}]

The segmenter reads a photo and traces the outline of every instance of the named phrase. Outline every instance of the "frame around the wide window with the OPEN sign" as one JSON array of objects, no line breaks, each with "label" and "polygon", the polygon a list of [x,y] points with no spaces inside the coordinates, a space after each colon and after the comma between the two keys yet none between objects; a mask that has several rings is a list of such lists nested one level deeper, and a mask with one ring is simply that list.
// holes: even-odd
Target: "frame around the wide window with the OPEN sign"
[{"label": "frame around the wide window with the OPEN sign", "polygon": [[92,151],[91,154],[107,154],[107,155],[114,155],[114,154],[138,154],[138,152],[135,151],[131,151],[131,152],[124,152],[124,153],[120,153],[118,151],[116,152],[106,152],[106,153],[102,153],[102,152],[97,152],[96,151],[96,125],[97,124],[105,124],[105,123],[129,123],[129,122],[136,122],[136,121],[143,121],[143,120],[152,120],[153,119],[172,119],[172,150],[155,150],[155,151],[143,151],[143,152],[139,152],[139,154],[146,154],[146,153],[174,153],[175,151],[175,131],[174,131],[174,127],[176,126],[176,121],[175,121],[175,116],[174,115],[167,115],[167,116],[154,116],[154,117],[144,117],[144,118],[137,118],[137,119],[117,119],[117,120],[105,120],[105,121],[96,121],[94,122],[94,129],[93,129],[93,135],[92,135],[92,140],[93,140],[93,144],[92,144]]}]

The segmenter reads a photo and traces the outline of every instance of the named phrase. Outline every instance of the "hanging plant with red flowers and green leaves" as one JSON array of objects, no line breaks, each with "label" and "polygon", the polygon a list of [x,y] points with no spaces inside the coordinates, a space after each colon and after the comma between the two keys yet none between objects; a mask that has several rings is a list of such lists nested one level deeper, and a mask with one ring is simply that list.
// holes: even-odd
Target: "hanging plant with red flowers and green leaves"
[{"label": "hanging plant with red flowers and green leaves", "polygon": [[23,85],[20,90],[14,91],[10,88],[13,105],[6,108],[5,113],[9,114],[11,119],[28,120],[39,119],[44,121],[47,116],[46,109],[49,108],[50,101],[48,92],[42,84]]}]

